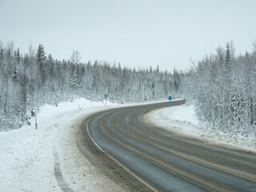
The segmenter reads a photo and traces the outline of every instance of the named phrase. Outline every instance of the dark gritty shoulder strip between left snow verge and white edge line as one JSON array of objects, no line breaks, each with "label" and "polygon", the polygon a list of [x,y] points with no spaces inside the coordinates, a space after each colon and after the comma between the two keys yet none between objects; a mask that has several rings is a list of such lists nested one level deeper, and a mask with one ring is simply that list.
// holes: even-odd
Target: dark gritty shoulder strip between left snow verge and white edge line
[{"label": "dark gritty shoulder strip between left snow verge and white edge line", "polygon": [[90,122],[92,118],[98,114],[91,115],[82,122],[76,139],[78,150],[80,150],[82,155],[87,158],[93,166],[95,166],[98,170],[101,170],[102,174],[104,174],[107,178],[112,179],[118,184],[118,186],[121,186],[123,191],[154,191],[137,178],[134,178],[133,174],[130,174],[127,172],[127,170],[124,170],[121,164],[115,162],[113,158],[110,158],[109,155],[95,145],[87,132],[87,125],[88,122]]}]

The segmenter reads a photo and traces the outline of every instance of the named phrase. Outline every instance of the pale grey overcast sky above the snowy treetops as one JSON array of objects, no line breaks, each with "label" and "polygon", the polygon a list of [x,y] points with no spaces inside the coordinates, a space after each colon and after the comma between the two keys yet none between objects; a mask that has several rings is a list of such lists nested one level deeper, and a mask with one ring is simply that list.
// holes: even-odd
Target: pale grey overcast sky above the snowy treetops
[{"label": "pale grey overcast sky above the snowy treetops", "polygon": [[78,50],[82,62],[185,70],[230,40],[251,51],[255,18],[254,0],[0,0],[0,40],[61,60]]}]

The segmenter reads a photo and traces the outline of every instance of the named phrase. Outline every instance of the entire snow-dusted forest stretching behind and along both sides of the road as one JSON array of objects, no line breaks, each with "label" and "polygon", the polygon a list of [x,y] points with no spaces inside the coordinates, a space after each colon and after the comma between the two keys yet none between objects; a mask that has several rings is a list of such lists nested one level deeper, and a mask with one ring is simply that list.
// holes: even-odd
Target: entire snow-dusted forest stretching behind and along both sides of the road
[{"label": "entire snow-dusted forest stretching behind and along both sides of the road", "polygon": [[133,103],[187,98],[209,129],[256,138],[256,43],[251,53],[235,55],[233,42],[192,62],[186,72],[130,69],[107,61],[81,62],[78,50],[68,60],[46,54],[44,46],[20,53],[14,42],[0,42],[0,130],[29,123],[44,104],[74,98]]}]

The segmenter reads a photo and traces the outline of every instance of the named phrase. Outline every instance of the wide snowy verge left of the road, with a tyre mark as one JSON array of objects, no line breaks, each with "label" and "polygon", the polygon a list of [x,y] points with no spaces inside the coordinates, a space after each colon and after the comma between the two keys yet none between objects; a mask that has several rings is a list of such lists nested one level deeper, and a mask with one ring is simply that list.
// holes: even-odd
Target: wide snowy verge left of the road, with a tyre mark
[{"label": "wide snowy verge left of the road, with a tyre mark", "polygon": [[[82,158],[75,144],[82,119],[92,112],[115,106],[107,105],[83,98],[59,103],[58,107],[45,105],[38,113],[38,130],[33,118],[31,126],[0,132],[0,191],[62,191],[54,174],[56,165],[60,165],[62,177],[68,186],[71,182],[74,191],[122,190]],[[77,173],[76,162],[87,172]],[[82,182],[80,186],[76,185],[76,178]],[[105,188],[98,179],[102,179]]]}]

